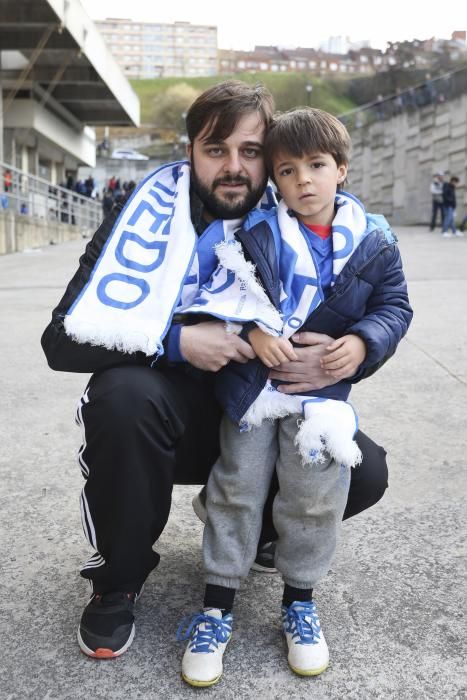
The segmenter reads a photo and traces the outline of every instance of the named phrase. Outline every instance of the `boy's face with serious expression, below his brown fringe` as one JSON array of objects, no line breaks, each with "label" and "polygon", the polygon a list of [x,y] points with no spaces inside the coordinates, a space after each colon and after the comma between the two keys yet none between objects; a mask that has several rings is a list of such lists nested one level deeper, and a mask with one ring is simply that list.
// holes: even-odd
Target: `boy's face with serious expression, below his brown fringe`
[{"label": "boy's face with serious expression, below his brown fringe", "polygon": [[281,153],[273,167],[276,185],[298,219],[305,224],[330,226],[337,185],[344,182],[347,165],[337,165],[330,153],[300,157]]}]

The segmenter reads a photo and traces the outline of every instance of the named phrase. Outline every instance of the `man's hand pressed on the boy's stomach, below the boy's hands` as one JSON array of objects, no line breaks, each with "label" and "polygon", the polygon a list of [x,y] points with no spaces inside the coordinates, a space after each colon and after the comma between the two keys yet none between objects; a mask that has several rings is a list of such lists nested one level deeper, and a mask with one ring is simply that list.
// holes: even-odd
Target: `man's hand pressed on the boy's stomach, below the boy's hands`
[{"label": "man's hand pressed on the boy's stomach, below the boy's hands", "polygon": [[284,394],[300,394],[336,384],[337,380],[327,374],[321,366],[321,358],[334,339],[324,333],[303,331],[293,335],[292,340],[306,347],[294,348],[298,359],[294,362],[282,362],[269,374],[270,379],[287,382],[278,386],[278,391]]}]

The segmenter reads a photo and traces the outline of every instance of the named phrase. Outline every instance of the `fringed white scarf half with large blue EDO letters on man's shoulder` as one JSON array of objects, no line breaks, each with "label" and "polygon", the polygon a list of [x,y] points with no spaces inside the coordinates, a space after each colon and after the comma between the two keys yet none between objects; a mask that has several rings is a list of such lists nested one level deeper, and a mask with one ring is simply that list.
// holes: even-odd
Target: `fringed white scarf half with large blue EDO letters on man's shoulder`
[{"label": "fringed white scarf half with large blue EDO letters on man's shoulder", "polygon": [[189,166],[172,163],[151,173],[126,203],[69,309],[67,334],[109,350],[162,354],[196,240]]}]

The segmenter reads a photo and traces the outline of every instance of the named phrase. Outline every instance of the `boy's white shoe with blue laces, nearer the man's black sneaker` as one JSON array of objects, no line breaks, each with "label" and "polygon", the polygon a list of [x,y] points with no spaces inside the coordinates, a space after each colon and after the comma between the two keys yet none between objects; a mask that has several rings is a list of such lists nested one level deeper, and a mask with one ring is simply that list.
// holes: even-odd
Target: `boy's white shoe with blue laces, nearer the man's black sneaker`
[{"label": "boy's white shoe with blue laces, nearer the man's black sneaker", "polygon": [[177,639],[189,640],[182,659],[182,678],[186,683],[203,688],[220,679],[222,657],[232,636],[232,621],[231,613],[222,616],[222,610],[217,608],[207,608],[181,621]]}]

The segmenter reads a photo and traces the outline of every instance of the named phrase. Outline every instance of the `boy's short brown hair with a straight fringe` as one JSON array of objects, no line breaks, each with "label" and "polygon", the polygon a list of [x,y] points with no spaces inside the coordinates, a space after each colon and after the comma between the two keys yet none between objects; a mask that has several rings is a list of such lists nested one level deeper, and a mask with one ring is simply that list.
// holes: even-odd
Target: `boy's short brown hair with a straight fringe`
[{"label": "boy's short brown hair with a straight fringe", "polygon": [[266,167],[273,177],[273,163],[281,154],[295,158],[330,153],[337,165],[348,165],[349,132],[336,117],[315,107],[300,107],[277,114],[264,142]]}]

